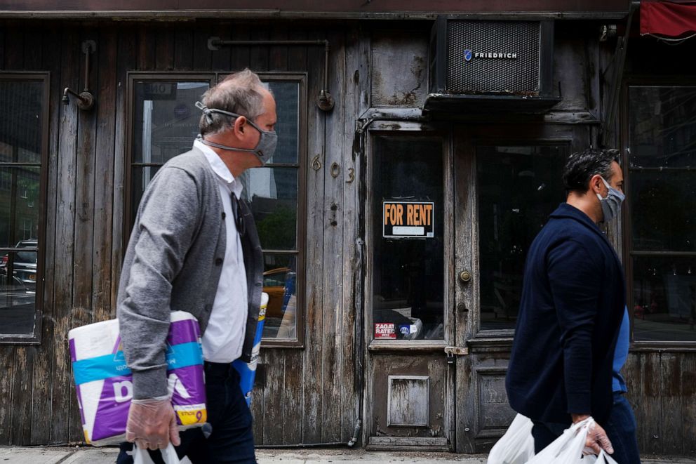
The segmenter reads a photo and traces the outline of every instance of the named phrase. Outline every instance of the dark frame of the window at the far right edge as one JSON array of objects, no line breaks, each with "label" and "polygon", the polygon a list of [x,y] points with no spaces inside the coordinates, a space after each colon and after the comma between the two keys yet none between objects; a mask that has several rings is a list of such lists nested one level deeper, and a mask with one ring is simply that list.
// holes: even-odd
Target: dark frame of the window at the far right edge
[{"label": "dark frame of the window at the far right edge", "polygon": [[[620,100],[620,141],[622,150],[622,170],[624,171],[624,191],[631,189],[631,170],[629,169],[629,89],[631,87],[694,87],[695,76],[642,76],[634,75],[624,79]],[[683,171],[688,171],[683,169]],[[622,208],[622,240],[624,242],[622,258],[624,262],[624,272],[626,275],[626,292],[629,319],[631,319],[631,352],[696,352],[696,341],[669,341],[669,340],[635,340],[634,333],[634,279],[633,279],[633,257],[636,256],[633,250],[633,237],[631,236],[631,214],[629,208]],[[660,256],[661,253],[638,252],[641,256]],[[646,254],[647,253],[647,254]],[[669,252],[668,252],[669,253]],[[664,255],[664,251],[662,252]]]}]

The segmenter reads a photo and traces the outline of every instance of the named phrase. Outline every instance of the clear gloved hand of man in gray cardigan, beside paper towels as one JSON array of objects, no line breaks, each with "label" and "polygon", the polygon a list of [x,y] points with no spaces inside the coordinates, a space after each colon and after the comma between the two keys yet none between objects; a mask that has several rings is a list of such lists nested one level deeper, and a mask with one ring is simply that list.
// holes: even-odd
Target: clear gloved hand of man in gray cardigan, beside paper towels
[{"label": "clear gloved hand of man in gray cardigan, beside paper towels", "polygon": [[176,413],[168,397],[133,399],[128,410],[126,441],[140,449],[165,449],[180,444]]}]

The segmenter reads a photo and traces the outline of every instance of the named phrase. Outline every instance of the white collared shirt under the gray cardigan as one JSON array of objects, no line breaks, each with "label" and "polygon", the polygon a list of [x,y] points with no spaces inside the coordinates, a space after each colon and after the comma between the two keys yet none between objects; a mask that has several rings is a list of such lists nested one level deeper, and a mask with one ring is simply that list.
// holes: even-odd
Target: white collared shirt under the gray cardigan
[{"label": "white collared shirt under the gray cardigan", "polygon": [[234,192],[234,195],[240,198],[243,185],[239,179],[234,178],[222,159],[208,145],[196,140],[194,147],[206,155],[217,177],[227,232],[222,273],[217,284],[208,327],[203,333],[203,359],[209,362],[226,363],[241,356],[248,315],[246,270],[241,240],[232,213],[232,197],[230,197]]}]

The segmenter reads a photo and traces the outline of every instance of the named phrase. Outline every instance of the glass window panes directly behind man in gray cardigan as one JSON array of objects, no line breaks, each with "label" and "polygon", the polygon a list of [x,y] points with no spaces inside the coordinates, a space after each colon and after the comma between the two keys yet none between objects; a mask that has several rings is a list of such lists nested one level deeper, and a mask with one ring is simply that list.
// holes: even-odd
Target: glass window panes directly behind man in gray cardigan
[{"label": "glass window panes directly behind man in gray cardigan", "polygon": [[[264,253],[263,289],[269,294],[269,303],[263,336],[297,345],[297,289],[302,288],[302,276],[298,277],[297,272],[302,247],[298,240],[298,193],[302,188],[300,113],[304,76],[260,77],[276,100],[278,146],[265,167],[243,173],[242,197],[254,215]],[[131,227],[142,194],[157,170],[191,149],[201,117],[194,106],[196,101],[215,81],[224,78],[225,74],[196,79],[133,74]]]}]

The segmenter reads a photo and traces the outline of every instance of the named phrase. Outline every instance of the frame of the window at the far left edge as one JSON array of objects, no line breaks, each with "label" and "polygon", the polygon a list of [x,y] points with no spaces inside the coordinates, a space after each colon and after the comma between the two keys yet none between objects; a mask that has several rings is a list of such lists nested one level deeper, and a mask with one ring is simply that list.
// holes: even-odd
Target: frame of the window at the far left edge
[{"label": "frame of the window at the far left edge", "polygon": [[[0,166],[39,167],[39,237],[36,253],[36,293],[34,299],[34,333],[30,336],[4,334],[0,332],[0,345],[40,345],[44,314],[44,261],[46,260],[46,194],[48,192],[48,124],[51,113],[51,73],[50,72],[0,72],[0,81],[40,81],[43,84],[41,114],[41,162],[7,163]],[[13,189],[14,190],[14,189]],[[17,194],[14,190],[12,195]],[[15,248],[0,248],[0,251],[13,251]]]}]

